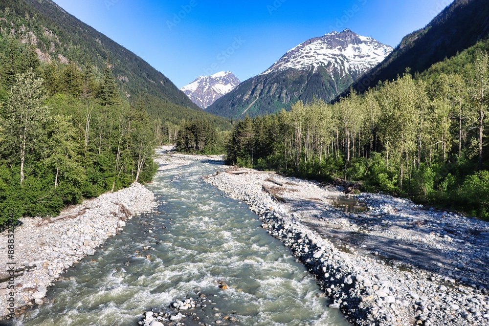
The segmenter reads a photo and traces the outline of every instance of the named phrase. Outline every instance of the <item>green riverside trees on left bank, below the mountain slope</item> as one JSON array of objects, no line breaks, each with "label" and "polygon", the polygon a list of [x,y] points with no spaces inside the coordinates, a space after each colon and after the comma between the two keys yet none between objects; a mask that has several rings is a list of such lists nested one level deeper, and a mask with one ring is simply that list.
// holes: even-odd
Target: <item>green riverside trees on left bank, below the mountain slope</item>
[{"label": "green riverside trees on left bank, below the mountain slope", "polygon": [[[161,135],[142,99],[120,96],[112,65],[41,65],[6,36],[0,65],[0,223],[56,215],[68,204],[151,181]],[[88,59],[89,63],[90,60]]]}]

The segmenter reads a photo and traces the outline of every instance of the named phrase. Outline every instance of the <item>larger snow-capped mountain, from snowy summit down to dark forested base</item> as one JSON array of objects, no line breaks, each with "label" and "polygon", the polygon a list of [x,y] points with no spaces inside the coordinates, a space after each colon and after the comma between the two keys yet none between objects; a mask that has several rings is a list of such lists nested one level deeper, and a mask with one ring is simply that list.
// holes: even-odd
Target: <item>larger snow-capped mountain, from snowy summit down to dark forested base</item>
[{"label": "larger snow-capped mountain, from snowy summit down to dark forested base", "polygon": [[349,29],[312,38],[222,96],[207,111],[225,117],[274,113],[314,98],[330,102],[393,48]]}]

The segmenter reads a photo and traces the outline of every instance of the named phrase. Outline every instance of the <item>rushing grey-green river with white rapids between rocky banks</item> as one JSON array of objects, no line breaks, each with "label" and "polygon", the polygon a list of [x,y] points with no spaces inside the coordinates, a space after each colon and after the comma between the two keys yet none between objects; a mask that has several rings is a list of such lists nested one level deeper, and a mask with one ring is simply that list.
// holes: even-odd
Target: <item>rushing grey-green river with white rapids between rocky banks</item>
[{"label": "rushing grey-green river with white rapids between rocky banks", "polygon": [[[156,213],[128,221],[95,256],[70,269],[69,280],[56,283],[50,304],[28,310],[14,325],[136,326],[144,312],[197,298],[199,290],[212,307],[240,320],[233,325],[349,325],[244,203],[202,181],[219,168],[195,162],[159,172],[148,185],[159,202]],[[154,249],[143,250],[147,245]],[[219,289],[219,280],[229,289]],[[196,311],[201,322],[219,319],[212,307]]]}]

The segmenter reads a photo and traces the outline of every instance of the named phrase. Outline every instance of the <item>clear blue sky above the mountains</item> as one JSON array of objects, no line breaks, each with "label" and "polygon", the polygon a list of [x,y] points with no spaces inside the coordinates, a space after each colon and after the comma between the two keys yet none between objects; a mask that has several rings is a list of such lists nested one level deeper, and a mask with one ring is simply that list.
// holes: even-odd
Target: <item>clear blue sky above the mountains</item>
[{"label": "clear blue sky above the mountains", "polygon": [[54,0],[177,87],[222,70],[241,81],[290,48],[350,28],[396,46],[450,0]]}]

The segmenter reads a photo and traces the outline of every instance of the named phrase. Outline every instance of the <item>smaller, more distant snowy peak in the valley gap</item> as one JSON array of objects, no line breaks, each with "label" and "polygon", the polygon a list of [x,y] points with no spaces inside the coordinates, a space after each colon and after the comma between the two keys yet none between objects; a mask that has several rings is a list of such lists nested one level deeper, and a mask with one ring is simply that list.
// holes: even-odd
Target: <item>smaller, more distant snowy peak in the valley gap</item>
[{"label": "smaller, more distant snowy peak in the valley gap", "polygon": [[200,108],[206,109],[240,83],[240,80],[232,72],[221,71],[212,76],[200,76],[180,90]]}]

